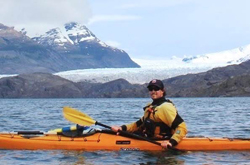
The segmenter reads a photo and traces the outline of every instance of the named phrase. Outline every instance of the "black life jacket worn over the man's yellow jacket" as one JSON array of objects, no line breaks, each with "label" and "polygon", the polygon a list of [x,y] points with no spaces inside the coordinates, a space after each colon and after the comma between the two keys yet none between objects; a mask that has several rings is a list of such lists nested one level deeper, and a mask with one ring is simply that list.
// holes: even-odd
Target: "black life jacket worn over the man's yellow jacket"
[{"label": "black life jacket worn over the man's yellow jacket", "polygon": [[164,122],[156,122],[150,119],[150,115],[155,114],[155,108],[165,102],[173,104],[173,102],[170,101],[169,99],[164,99],[162,102],[160,102],[157,105],[150,104],[144,107],[144,110],[147,110],[149,112],[148,116],[143,121],[143,126],[142,126],[142,131],[145,136],[151,137],[151,138],[155,137],[155,138],[170,139],[171,136],[173,135],[172,131],[176,129],[180,123],[183,122],[183,119],[179,116],[178,112],[171,127],[169,127]]}]

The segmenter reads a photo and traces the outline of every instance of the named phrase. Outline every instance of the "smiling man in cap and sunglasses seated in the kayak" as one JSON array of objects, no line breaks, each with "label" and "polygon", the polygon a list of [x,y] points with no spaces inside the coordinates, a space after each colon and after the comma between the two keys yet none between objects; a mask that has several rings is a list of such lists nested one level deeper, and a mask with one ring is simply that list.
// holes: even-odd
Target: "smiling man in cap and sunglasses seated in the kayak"
[{"label": "smiling man in cap and sunglasses seated in the kayak", "polygon": [[163,141],[161,146],[174,147],[186,136],[186,124],[172,101],[165,98],[166,91],[161,80],[151,80],[147,88],[153,102],[143,108],[143,117],[134,123],[111,128],[115,132],[123,130],[149,138],[170,138],[169,141]]}]

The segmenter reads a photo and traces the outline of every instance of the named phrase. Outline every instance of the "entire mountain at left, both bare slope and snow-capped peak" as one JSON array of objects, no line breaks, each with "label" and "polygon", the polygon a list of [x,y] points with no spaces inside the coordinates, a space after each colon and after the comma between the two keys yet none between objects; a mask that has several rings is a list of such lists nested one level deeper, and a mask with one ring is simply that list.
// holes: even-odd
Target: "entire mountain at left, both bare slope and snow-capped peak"
[{"label": "entire mountain at left, both bare slope and snow-capped peak", "polygon": [[0,24],[0,74],[139,67],[126,52],[104,45],[92,33],[83,34],[86,29],[76,31],[76,24],[70,25],[65,25],[68,37],[54,29],[48,36],[31,39]]}]

